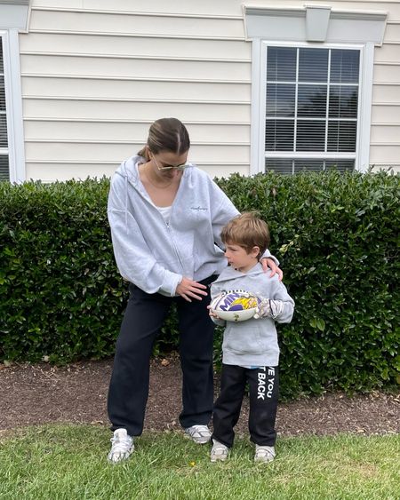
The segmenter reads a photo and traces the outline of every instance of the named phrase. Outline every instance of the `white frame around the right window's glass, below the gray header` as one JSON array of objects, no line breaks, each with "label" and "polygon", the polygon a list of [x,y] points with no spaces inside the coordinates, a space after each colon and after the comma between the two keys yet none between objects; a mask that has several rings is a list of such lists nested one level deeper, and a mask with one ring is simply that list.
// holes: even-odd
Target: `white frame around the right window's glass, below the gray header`
[{"label": "white frame around the right window's glass, below the gray header", "polygon": [[[254,46],[257,44],[256,40],[253,40],[253,50]],[[329,49],[347,49],[356,50],[360,53],[360,65],[359,65],[359,75],[358,75],[358,103],[357,103],[357,131],[356,131],[356,152],[354,154],[349,153],[301,153],[301,152],[266,152],[265,151],[265,128],[266,128],[266,92],[267,92],[267,50],[268,47],[291,47],[291,48],[313,48],[318,50],[329,50]],[[330,158],[342,158],[345,159],[355,159],[355,170],[366,171],[368,168],[369,161],[369,123],[368,131],[365,131],[365,123],[363,122],[364,107],[368,107],[367,101],[369,100],[370,105],[370,115],[372,106],[372,92],[371,95],[364,95],[363,91],[368,88],[367,84],[364,84],[364,67],[365,67],[365,45],[364,44],[310,44],[308,42],[282,42],[282,41],[268,41],[260,39],[258,47],[258,67],[259,67],[259,91],[258,95],[252,98],[252,132],[257,133],[255,138],[252,133],[252,148],[257,145],[257,150],[252,151],[252,162],[251,162],[251,173],[258,173],[265,171],[265,161],[266,158],[309,158],[309,159],[330,159]],[[254,54],[253,54],[254,56]],[[257,61],[256,59],[253,59]],[[372,61],[373,63],[373,61]],[[257,64],[257,62],[256,62]],[[256,76],[255,76],[256,77]],[[255,81],[253,80],[253,83]],[[372,87],[372,81],[370,82]],[[256,116],[258,115],[258,116]],[[369,122],[369,121],[368,121]],[[363,126],[364,123],[364,126]],[[364,147],[365,139],[368,140],[367,147]],[[361,155],[362,151],[366,154]]]}]

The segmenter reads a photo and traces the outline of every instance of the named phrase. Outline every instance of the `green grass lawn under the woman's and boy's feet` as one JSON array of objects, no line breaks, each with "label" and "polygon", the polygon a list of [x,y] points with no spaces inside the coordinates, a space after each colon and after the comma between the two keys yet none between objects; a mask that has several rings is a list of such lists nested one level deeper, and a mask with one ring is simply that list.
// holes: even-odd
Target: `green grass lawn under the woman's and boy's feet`
[{"label": "green grass lawn under the woman's and boy's feet", "polygon": [[1,500],[400,498],[400,435],[278,440],[254,464],[237,439],[227,462],[182,433],[145,433],[124,464],[108,464],[110,432],[90,425],[29,427],[0,438]]}]

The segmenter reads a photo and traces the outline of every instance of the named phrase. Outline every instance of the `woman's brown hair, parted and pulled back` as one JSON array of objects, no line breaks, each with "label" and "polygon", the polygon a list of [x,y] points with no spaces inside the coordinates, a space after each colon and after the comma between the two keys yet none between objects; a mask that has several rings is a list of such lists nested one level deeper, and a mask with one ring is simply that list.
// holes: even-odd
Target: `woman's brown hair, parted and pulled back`
[{"label": "woman's brown hair, parted and pulled back", "polygon": [[182,155],[189,147],[190,139],[185,125],[177,118],[160,118],[150,126],[148,142],[140,149],[138,155],[149,161],[149,151],[157,154],[166,150]]}]

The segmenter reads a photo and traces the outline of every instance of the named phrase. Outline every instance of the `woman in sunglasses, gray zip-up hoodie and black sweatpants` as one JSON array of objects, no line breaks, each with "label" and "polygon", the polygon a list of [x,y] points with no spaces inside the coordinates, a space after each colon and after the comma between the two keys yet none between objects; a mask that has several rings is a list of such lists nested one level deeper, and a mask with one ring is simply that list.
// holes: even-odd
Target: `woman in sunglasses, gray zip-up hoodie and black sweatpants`
[{"label": "woman in sunglasses, gray zip-up hoodie and black sweatpants", "polygon": [[[204,171],[188,163],[189,147],[183,123],[157,120],[146,146],[111,181],[108,220],[116,264],[130,282],[108,392],[114,431],[108,459],[114,463],[131,455],[133,437],[142,433],[152,345],[172,302],[180,329],[180,425],[198,443],[211,438],[209,285],[227,266],[220,230],[238,210]],[[265,268],[281,274],[268,256]]]}]

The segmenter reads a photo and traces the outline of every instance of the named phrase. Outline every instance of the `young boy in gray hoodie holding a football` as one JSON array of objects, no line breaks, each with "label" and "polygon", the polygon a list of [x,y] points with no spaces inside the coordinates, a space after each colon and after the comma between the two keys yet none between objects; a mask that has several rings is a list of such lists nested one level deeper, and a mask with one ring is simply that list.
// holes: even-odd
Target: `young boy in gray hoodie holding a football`
[{"label": "young boy in gray hoodie holding a football", "polygon": [[247,321],[212,321],[224,325],[220,396],[213,410],[211,461],[226,460],[234,441],[246,382],[250,388],[249,430],[256,445],[254,460],[275,458],[278,360],[275,322],[292,320],[294,302],[277,275],[266,280],[260,255],[268,248],[267,224],[246,212],[222,229],[229,266],[212,283],[212,299],[228,290],[245,290],[260,298],[256,315]]}]

